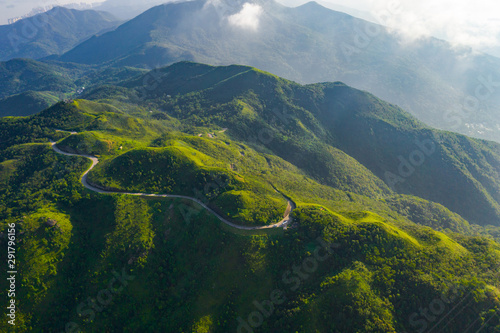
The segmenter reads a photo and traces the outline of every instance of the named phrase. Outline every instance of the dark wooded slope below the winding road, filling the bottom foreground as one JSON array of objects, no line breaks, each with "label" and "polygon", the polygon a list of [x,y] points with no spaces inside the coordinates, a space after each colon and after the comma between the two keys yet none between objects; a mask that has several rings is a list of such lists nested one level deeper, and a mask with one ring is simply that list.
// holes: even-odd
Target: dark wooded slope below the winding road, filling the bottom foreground
[{"label": "dark wooded slope below the winding road, filling the bottom foreground", "polygon": [[[488,278],[487,267],[495,268],[499,247],[485,240],[452,240],[415,226],[407,232],[373,213],[340,215],[307,206],[295,214],[300,229],[248,237],[233,234],[203,210],[186,220],[181,213],[184,205],[191,204],[85,195],[71,207],[59,204],[65,214],[26,210],[24,222],[18,225],[25,232],[20,253],[37,249],[40,256],[25,262],[22,275],[47,267],[41,261],[54,267],[32,271],[26,280],[31,287],[18,296],[21,313],[33,314],[26,316],[26,326],[33,328],[29,331],[62,330],[68,322],[89,332],[111,327],[232,331],[239,316],[246,318],[255,311],[253,301],[269,299],[277,288],[287,302],[276,307],[263,332],[411,330],[415,327],[405,314],[447,293],[452,283],[464,290],[451,306],[469,290],[474,290],[477,299],[469,304],[470,313],[446,322],[443,332],[456,331],[496,304],[490,296],[495,288],[473,281],[473,267],[480,260],[485,265],[481,279],[497,283]],[[71,228],[60,234],[43,226],[42,216],[55,218],[61,225],[71,221]],[[59,238],[51,238],[54,232]],[[70,235],[72,241],[67,244],[63,239]],[[295,283],[284,281],[283,274],[312,255],[318,236],[339,247],[292,290]],[[44,247],[44,240],[56,241],[56,249],[63,251],[54,251],[55,245]],[[121,272],[122,268],[135,278],[102,311],[94,312],[93,322],[85,321],[88,312],[78,317],[81,301],[95,298],[107,288],[113,270]],[[24,331],[22,326],[20,331]]]}]

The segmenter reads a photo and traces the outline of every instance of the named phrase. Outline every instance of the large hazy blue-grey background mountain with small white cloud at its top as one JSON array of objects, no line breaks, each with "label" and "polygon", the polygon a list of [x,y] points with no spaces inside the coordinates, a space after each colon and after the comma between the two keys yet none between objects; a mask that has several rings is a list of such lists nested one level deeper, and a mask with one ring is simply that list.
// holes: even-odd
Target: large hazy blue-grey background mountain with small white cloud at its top
[{"label": "large hazy blue-grey background mountain with small white cloud at its top", "polygon": [[498,58],[432,38],[409,42],[381,25],[315,2],[287,8],[252,1],[261,11],[252,24],[242,26],[233,15],[241,13],[244,3],[160,5],[60,59],[146,68],[181,60],[237,63],[301,83],[342,81],[433,127],[500,140]]}]

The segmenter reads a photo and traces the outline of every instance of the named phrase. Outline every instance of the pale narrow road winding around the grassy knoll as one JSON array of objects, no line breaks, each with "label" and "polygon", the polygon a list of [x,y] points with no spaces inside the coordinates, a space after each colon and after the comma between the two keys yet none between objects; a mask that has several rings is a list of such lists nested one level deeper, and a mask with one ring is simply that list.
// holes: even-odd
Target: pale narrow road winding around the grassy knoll
[{"label": "pale narrow road winding around the grassy knoll", "polygon": [[92,186],[92,184],[90,184],[88,182],[88,174],[89,174],[90,170],[92,170],[97,165],[97,163],[99,163],[99,160],[97,159],[97,157],[90,156],[90,155],[79,155],[79,154],[66,153],[66,152],[62,151],[61,149],[59,149],[55,142],[51,142],[50,144],[52,146],[52,149],[58,154],[62,154],[62,155],[66,155],[66,156],[81,156],[81,157],[88,158],[89,160],[92,161],[92,165],[82,174],[81,182],[82,182],[83,186],[85,186],[87,189],[89,189],[93,192],[97,192],[97,193],[101,193],[101,194],[125,194],[125,195],[134,195],[134,196],[138,196],[138,197],[180,198],[180,199],[191,200],[193,202],[196,202],[197,204],[199,204],[203,208],[205,208],[211,214],[215,215],[215,217],[217,217],[219,220],[221,220],[225,224],[227,224],[233,228],[239,229],[239,230],[265,230],[265,229],[285,227],[291,221],[290,214],[296,208],[295,203],[293,201],[287,199],[288,207],[286,208],[285,216],[284,216],[283,220],[279,221],[278,223],[266,225],[263,227],[244,227],[244,226],[240,226],[240,225],[234,224],[234,223],[226,220],[225,218],[223,218],[222,216],[217,214],[214,210],[212,210],[210,207],[208,207],[207,205],[205,205],[203,202],[201,202],[200,200],[198,200],[196,198],[191,198],[191,197],[187,197],[184,195],[172,195],[172,194],[148,194],[148,193],[129,193],[129,192],[105,191],[105,190],[99,189],[95,186]]}]

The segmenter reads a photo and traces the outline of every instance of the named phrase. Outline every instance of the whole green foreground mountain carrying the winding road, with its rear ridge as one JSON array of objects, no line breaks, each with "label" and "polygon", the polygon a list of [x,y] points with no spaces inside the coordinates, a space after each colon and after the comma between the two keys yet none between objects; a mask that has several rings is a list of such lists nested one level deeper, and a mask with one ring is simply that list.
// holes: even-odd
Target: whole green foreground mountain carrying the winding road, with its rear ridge
[{"label": "whole green foreground mountain carrying the winding road, with its rear ridge", "polygon": [[[94,191],[50,141],[98,158]],[[341,83],[186,62],[2,118],[17,331],[499,331],[498,150]],[[286,230],[228,223],[287,201]]]}]

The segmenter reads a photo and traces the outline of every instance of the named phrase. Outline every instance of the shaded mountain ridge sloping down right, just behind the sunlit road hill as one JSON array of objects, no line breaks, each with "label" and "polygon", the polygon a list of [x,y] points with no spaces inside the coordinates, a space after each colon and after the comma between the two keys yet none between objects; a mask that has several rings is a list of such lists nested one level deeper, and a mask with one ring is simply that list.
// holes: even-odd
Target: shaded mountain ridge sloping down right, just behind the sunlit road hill
[{"label": "shaded mountain ridge sloping down right, just behind the sunlit road hill", "polygon": [[123,86],[169,116],[228,128],[323,184],[374,197],[390,187],[475,224],[500,221],[498,144],[433,130],[342,83],[301,86],[250,67],[193,63],[153,73],[155,89],[141,77]]}]

